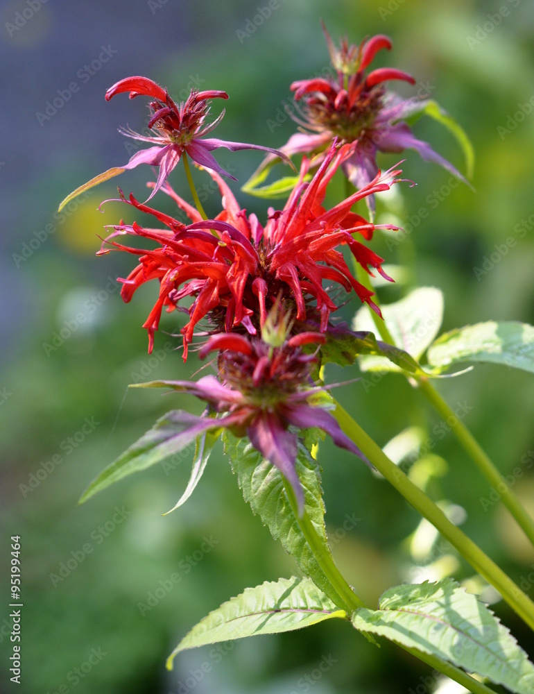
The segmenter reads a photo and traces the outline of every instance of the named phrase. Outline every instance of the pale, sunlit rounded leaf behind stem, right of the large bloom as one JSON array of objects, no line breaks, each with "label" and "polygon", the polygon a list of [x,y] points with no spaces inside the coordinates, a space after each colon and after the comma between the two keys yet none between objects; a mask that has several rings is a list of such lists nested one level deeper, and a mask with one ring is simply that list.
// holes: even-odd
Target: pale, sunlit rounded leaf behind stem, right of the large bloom
[{"label": "pale, sunlit rounded leaf behind stem, right of the large bloom", "polygon": [[[418,360],[440,330],[443,320],[443,295],[435,287],[419,287],[400,301],[383,305],[381,311],[397,350],[404,350],[402,351],[403,354],[407,353],[413,359]],[[362,306],[354,316],[354,330],[373,329],[374,323],[368,307]],[[381,343],[381,346],[383,344],[385,343]],[[393,349],[391,346],[389,348],[390,350]],[[386,352],[384,348],[383,351]],[[365,354],[365,352],[362,353]],[[367,354],[373,353],[368,352]],[[386,353],[386,357],[389,361],[384,357],[361,357],[362,371],[399,371],[400,367],[405,371],[414,373],[413,364],[412,369],[406,369],[406,357],[404,363],[399,361],[398,355],[395,359]],[[418,368],[420,373],[424,373],[420,367]]]}]

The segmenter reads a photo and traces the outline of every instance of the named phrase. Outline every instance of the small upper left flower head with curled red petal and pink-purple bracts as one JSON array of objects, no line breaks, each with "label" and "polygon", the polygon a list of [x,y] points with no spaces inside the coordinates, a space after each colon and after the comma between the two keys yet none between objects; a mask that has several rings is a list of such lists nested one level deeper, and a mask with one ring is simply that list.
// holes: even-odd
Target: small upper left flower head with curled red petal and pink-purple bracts
[{"label": "small upper left flower head with curled red petal and pink-purple bracts", "polygon": [[[153,130],[155,134],[151,136],[140,135],[130,129],[123,129],[121,133],[141,142],[148,142],[153,146],[136,152],[127,164],[108,169],[103,174],[98,174],[98,176],[77,188],[62,201],[60,210],[80,193],[92,188],[94,185],[98,185],[98,183],[103,183],[105,180],[122,174],[126,169],[135,169],[139,164],[150,164],[153,167],[160,167],[156,185],[148,198],[150,199],[165,183],[184,153],[188,154],[193,161],[205,167],[205,169],[217,171],[219,174],[229,178],[234,178],[234,176],[231,176],[216,162],[214,155],[212,155],[214,149],[225,147],[232,152],[239,149],[259,149],[269,152],[275,157],[282,158],[293,167],[288,157],[276,149],[262,147],[259,144],[229,142],[216,137],[205,137],[205,135],[218,126],[225,114],[223,110],[212,123],[205,124],[205,120],[209,115],[209,100],[227,99],[228,94],[226,92],[216,90],[198,92],[198,90],[193,89],[187,100],[177,105],[171,99],[166,89],[146,77],[137,76],[127,77],[114,84],[105,93],[105,99],[110,101],[115,94],[121,94],[122,92],[130,92],[130,99],[134,99],[135,96],[150,96],[152,99],[149,103],[151,115],[148,121],[148,128]],[[236,179],[234,178],[234,180]]]}]

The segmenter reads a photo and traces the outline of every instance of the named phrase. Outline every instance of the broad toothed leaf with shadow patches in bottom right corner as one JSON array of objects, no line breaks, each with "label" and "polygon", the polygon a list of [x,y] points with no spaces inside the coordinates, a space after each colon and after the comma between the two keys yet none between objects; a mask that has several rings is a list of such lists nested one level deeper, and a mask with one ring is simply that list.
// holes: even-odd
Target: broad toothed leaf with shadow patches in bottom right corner
[{"label": "broad toothed leaf with shadow patches in bottom right corner", "polygon": [[477,672],[516,694],[534,693],[534,666],[526,653],[497,617],[453,579],[389,589],[378,610],[357,609],[352,624]]}]

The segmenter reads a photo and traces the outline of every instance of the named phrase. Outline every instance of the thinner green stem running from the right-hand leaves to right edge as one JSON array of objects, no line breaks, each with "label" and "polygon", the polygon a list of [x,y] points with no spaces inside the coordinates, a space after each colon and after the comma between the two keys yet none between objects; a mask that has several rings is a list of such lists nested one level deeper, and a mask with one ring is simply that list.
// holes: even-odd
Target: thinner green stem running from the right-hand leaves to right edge
[{"label": "thinner green stem running from the right-hand leaves to right edge", "polygon": [[[490,482],[492,487],[499,493],[503,504],[508,508],[510,514],[513,515],[518,525],[522,527],[522,530],[534,544],[534,521],[531,516],[528,515],[522,503],[519,501],[515,493],[510,489],[506,480],[502,477],[501,473],[497,470],[488,455],[479,446],[478,441],[474,438],[473,434],[469,429],[461,422],[458,417],[454,414],[453,410],[445,400],[440,396],[440,393],[432,386],[427,378],[420,377],[417,378],[417,384],[419,385],[420,391],[429,400],[429,402],[435,407],[442,417],[451,424],[451,429],[453,430],[456,438],[462,444],[463,448],[467,451],[470,457],[473,459],[476,466],[479,468],[484,477]],[[450,418],[450,420],[449,420]]]}]

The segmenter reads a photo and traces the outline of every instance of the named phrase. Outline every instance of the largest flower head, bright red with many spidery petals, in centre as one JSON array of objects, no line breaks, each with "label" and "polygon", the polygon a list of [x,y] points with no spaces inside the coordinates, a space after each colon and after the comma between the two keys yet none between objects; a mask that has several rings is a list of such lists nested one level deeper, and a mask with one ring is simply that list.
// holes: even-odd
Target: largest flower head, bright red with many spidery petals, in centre
[{"label": "largest flower head, bright red with many spidery petals, in centre", "polygon": [[[108,237],[100,253],[109,245],[139,257],[138,266],[128,278],[121,280],[121,296],[130,301],[144,282],[157,279],[160,293],[153,310],[144,323],[148,330],[149,351],[162,310],[177,308],[180,301],[192,297],[188,309],[189,322],[182,328],[184,359],[193,339],[195,326],[208,317],[218,330],[230,332],[241,328],[250,335],[264,325],[277,298],[284,306],[295,307],[296,318],[306,319],[307,304],[316,302],[320,314],[320,330],[327,330],[329,315],[337,309],[329,296],[332,282],[345,291],[354,289],[379,313],[372,302],[372,291],[361,285],[345,261],[338,246],[348,246],[356,262],[372,274],[381,269],[382,258],[370,251],[354,235],[371,239],[379,225],[351,212],[352,205],[366,196],[388,190],[399,170],[379,174],[363,189],[355,192],[331,210],[322,207],[329,180],[336,169],[352,156],[354,144],[334,144],[309,183],[304,181],[309,160],[304,158],[300,179],[283,210],[269,210],[268,221],[261,226],[254,214],[241,210],[224,180],[211,171],[223,196],[223,211],[216,219],[204,220],[199,212],[175,194],[168,184],[162,188],[187,212],[192,223],[185,226],[167,214],[139,203],[133,196],[130,203],[142,212],[153,214],[166,229],[144,228],[137,223],[118,225]],[[387,228],[397,229],[393,225]],[[114,240],[123,235],[152,239],[159,246],[153,250],[123,245]],[[324,286],[325,282],[329,284]]]}]

